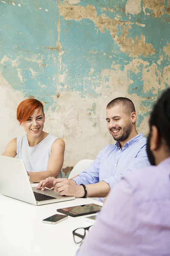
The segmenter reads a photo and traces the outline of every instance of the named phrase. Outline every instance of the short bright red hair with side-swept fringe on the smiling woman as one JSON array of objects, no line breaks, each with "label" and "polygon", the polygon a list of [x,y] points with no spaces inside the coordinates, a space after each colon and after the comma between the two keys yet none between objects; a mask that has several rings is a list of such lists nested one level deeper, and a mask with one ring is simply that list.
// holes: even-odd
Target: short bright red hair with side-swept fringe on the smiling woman
[{"label": "short bright red hair with side-swept fringe on the smiling woman", "polygon": [[42,103],[37,99],[25,99],[23,100],[17,107],[17,120],[21,122],[25,122],[28,118],[34,113],[36,108],[42,109],[44,113],[44,108]]}]

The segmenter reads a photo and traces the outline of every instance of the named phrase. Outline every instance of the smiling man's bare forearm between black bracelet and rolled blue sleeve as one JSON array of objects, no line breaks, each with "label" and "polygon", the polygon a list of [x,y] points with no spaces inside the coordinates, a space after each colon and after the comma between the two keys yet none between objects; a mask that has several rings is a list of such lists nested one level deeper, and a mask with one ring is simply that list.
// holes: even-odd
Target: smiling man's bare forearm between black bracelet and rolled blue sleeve
[{"label": "smiling man's bare forearm between black bracelet and rolled blue sleeve", "polygon": [[105,181],[96,184],[85,185],[88,192],[88,197],[106,197],[111,188]]}]

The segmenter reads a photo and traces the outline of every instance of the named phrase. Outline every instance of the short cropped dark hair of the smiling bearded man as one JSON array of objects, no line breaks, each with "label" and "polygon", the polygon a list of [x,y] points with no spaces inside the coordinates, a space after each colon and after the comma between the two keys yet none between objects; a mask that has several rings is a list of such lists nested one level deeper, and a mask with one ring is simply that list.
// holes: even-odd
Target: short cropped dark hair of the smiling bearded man
[{"label": "short cropped dark hair of the smiling bearded man", "polygon": [[110,109],[116,105],[122,105],[126,113],[131,114],[132,112],[136,112],[133,102],[128,98],[119,97],[119,98],[113,99],[111,102],[108,103],[107,108]]}]

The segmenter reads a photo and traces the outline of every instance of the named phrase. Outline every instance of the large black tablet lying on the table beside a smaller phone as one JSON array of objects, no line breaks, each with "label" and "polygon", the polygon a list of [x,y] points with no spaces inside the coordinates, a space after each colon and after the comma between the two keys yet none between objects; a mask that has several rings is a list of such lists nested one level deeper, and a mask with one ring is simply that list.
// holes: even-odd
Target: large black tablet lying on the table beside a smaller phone
[{"label": "large black tablet lying on the table beside a smaller phone", "polygon": [[102,209],[102,206],[99,206],[98,204],[85,204],[85,205],[79,205],[74,207],[57,209],[57,212],[64,213],[71,217],[78,217],[82,215],[88,215],[88,214],[99,212],[101,209]]}]

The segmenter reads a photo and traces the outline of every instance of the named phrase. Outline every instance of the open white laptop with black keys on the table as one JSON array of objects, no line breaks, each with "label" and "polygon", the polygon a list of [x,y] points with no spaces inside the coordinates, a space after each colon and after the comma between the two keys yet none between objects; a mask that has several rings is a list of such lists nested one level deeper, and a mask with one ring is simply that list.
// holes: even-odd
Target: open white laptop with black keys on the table
[{"label": "open white laptop with black keys on the table", "polygon": [[0,194],[34,205],[75,199],[50,189],[31,187],[23,160],[0,156]]}]

